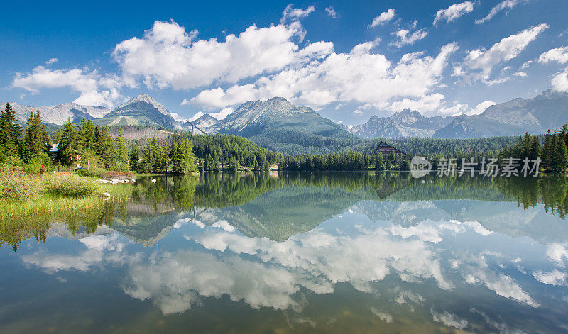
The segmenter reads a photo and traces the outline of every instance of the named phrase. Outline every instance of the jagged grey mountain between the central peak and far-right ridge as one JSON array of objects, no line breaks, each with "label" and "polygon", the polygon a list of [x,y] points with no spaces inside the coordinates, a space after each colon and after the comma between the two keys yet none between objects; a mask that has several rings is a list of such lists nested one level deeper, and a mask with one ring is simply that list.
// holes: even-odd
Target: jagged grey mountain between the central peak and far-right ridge
[{"label": "jagged grey mountain between the central peak and far-right ridge", "polygon": [[425,117],[418,111],[404,109],[389,117],[371,117],[367,123],[353,126],[349,131],[361,138],[432,137],[436,130],[447,126],[451,117]]}]

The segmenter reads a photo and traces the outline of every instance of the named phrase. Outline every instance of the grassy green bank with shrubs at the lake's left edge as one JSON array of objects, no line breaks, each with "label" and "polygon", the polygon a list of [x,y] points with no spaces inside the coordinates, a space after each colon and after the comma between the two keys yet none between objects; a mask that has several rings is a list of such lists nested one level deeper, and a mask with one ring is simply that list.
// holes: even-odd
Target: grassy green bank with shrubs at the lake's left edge
[{"label": "grassy green bank with shrubs at the lake's left edge", "polygon": [[0,220],[58,211],[97,208],[108,201],[129,199],[129,184],[96,184],[94,177],[76,174],[26,174],[19,169],[0,169]]}]

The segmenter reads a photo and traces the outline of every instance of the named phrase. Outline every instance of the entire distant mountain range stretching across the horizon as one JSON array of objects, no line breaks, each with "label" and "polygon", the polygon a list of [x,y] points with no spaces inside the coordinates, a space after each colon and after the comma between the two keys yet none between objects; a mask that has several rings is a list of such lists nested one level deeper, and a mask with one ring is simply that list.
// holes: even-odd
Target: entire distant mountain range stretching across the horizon
[{"label": "entire distant mountain range stretching across the horizon", "polygon": [[[31,111],[39,110],[46,123],[56,126],[65,123],[67,118],[75,123],[90,118],[100,126],[190,128],[185,122],[175,121],[168,110],[146,94],[136,96],[112,111],[74,103],[40,107],[14,103],[11,106],[22,124],[26,123]],[[296,106],[280,97],[241,104],[223,120],[206,113],[192,123],[207,133],[240,135],[268,149],[305,152],[305,147],[324,147],[333,145],[334,140],[357,137],[482,138],[525,132],[542,134],[567,122],[568,94],[545,91],[534,99],[513,99],[490,106],[474,116],[425,117],[418,111],[404,109],[388,117],[373,116],[366,123],[349,129],[311,108]]]}]

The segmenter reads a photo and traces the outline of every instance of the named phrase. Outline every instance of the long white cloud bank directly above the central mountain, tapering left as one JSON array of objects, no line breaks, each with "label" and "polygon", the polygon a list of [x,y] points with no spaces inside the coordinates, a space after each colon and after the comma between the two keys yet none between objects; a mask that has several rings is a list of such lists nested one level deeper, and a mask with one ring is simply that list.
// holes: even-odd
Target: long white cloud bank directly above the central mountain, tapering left
[{"label": "long white cloud bank directly above the central mountain, tapering left", "polygon": [[206,108],[223,108],[282,96],[312,108],[349,101],[391,110],[408,105],[427,105],[428,110],[439,106],[444,96],[430,93],[441,84],[447,58],[457,50],[457,45],[444,45],[435,57],[403,55],[398,64],[371,52],[373,45],[376,43],[362,43],[349,53],[332,52],[323,60],[260,77],[253,84],[234,85],[226,90],[207,89],[190,102]]}]

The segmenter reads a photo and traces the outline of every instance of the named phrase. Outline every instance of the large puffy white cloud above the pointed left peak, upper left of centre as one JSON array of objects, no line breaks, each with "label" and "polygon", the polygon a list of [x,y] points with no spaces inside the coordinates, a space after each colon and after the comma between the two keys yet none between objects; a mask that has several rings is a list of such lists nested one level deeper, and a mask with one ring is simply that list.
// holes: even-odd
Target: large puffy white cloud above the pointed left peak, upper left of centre
[{"label": "large puffy white cloud above the pointed left peak, upper left of centre", "polygon": [[[293,11],[289,15],[296,15]],[[191,89],[213,82],[235,83],[330,52],[332,43],[324,42],[300,49],[293,38],[302,31],[297,22],[250,26],[219,42],[215,38],[195,40],[195,30],[186,33],[178,23],[156,21],[142,38],[116,45],[112,55],[125,77],[143,79],[148,87]]]}]

